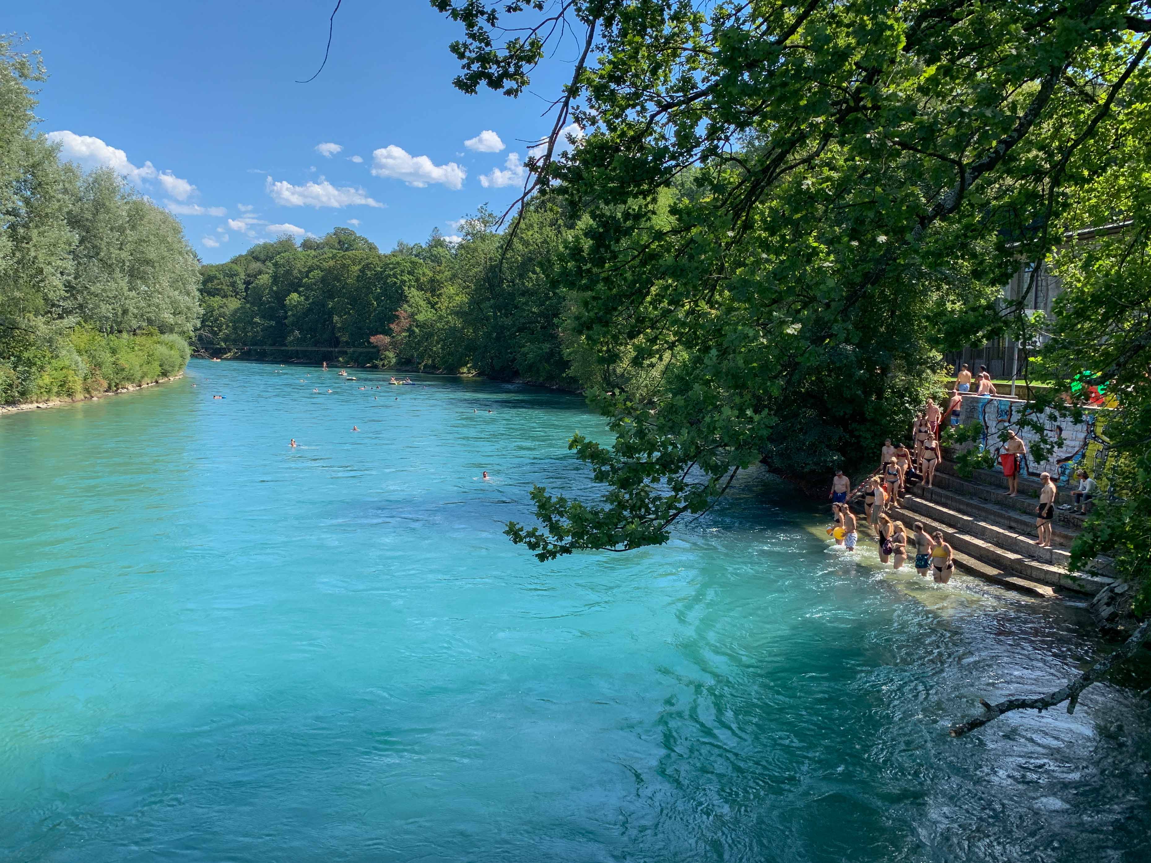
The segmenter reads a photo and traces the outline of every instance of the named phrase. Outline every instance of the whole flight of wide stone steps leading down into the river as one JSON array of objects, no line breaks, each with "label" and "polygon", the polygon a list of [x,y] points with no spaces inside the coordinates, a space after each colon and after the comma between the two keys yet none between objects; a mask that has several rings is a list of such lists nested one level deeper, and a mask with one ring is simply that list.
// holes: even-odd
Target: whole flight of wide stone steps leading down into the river
[{"label": "whole flight of wide stone steps leading down into the river", "polygon": [[1111,585],[1107,563],[1096,560],[1090,572],[1070,572],[1069,548],[1083,517],[1059,510],[1070,495],[1060,489],[1052,522],[1053,548],[1035,544],[1035,507],[1039,483],[1020,479],[1019,497],[1007,497],[1006,479],[976,471],[970,480],[942,461],[933,488],[908,483],[901,506],[891,511],[910,533],[922,521],[928,533],[939,530],[955,551],[955,566],[970,575],[1013,590],[1038,595],[1074,591],[1093,595]]}]

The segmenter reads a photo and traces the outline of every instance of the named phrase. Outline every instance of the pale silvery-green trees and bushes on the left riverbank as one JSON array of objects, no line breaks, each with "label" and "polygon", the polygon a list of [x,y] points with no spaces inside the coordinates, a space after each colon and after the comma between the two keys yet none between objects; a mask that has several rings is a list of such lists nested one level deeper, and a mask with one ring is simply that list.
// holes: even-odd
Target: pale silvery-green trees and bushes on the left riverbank
[{"label": "pale silvery-green trees and bushes on the left riverbank", "polygon": [[180,223],[112,171],[61,162],[35,128],[43,79],[0,40],[0,403],[171,376],[199,320]]}]

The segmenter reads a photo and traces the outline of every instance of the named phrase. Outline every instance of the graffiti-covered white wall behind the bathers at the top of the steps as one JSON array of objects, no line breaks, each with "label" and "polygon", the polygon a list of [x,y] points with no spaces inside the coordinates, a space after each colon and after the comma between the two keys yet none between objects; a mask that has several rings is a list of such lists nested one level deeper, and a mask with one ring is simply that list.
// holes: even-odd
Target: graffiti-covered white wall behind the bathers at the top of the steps
[{"label": "graffiti-covered white wall behind the bathers at the top of the steps", "polygon": [[1039,435],[1030,426],[1021,428],[1019,422],[1028,411],[1028,403],[1014,398],[980,398],[965,396],[960,421],[978,422],[983,427],[983,446],[991,450],[996,460],[1004,449],[1000,435],[1013,429],[1027,443],[1028,456],[1023,459],[1023,474],[1038,478],[1041,473],[1050,473],[1060,486],[1074,484],[1075,472],[1087,469],[1102,486],[1106,486],[1107,458],[1111,453],[1110,443],[1104,429],[1107,425],[1107,411],[1085,408],[1083,421],[1073,422],[1069,417],[1059,417],[1049,412],[1043,417],[1027,413],[1029,421],[1043,423],[1043,436],[1051,448],[1046,459],[1039,461],[1032,455]]}]

